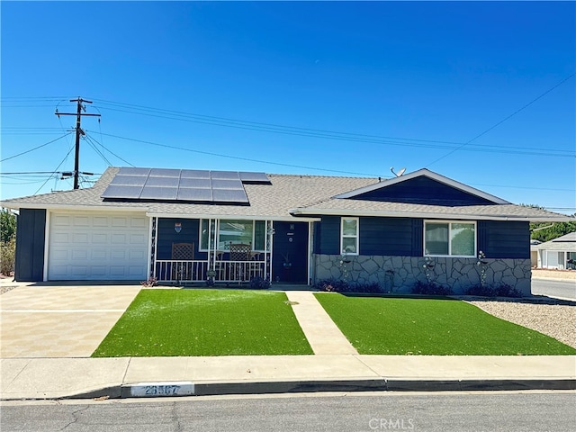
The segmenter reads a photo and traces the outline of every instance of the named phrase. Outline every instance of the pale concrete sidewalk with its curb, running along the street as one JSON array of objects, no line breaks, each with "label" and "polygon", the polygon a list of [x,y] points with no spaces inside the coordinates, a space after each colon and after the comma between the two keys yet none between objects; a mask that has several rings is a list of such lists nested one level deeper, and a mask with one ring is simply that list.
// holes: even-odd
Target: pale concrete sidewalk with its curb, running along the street
[{"label": "pale concrete sidewalk with its curb, running along the street", "polygon": [[280,392],[575,390],[576,356],[5,358],[2,400]]}]

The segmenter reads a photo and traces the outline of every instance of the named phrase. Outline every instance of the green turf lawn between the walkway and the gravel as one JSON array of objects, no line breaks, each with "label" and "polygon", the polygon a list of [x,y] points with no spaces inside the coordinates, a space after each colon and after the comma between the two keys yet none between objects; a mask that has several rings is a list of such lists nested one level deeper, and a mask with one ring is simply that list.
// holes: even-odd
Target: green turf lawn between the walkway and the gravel
[{"label": "green turf lawn between the walkway and the gravel", "polygon": [[574,355],[576,349],[456,300],[316,298],[359,354],[437,356]]}]

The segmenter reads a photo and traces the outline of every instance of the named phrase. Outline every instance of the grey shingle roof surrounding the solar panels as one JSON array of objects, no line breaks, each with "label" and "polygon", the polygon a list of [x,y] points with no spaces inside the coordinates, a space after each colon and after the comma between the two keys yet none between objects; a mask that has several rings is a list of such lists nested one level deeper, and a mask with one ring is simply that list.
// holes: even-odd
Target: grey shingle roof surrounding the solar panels
[{"label": "grey shingle roof surrounding the solar panels", "polygon": [[[2,202],[4,207],[147,211],[154,215],[201,215],[266,217],[292,219],[321,214],[348,216],[390,216],[417,218],[454,218],[466,220],[572,220],[563,214],[515,204],[440,206],[402,202],[372,202],[353,198],[334,198],[379,179],[324,175],[269,174],[272,184],[245,184],[249,205],[186,202],[104,202],[103,191],[119,168],[108,168],[93,187],[75,191],[46,193]],[[396,180],[397,181],[397,180]],[[385,184],[385,180],[383,184]]]}]

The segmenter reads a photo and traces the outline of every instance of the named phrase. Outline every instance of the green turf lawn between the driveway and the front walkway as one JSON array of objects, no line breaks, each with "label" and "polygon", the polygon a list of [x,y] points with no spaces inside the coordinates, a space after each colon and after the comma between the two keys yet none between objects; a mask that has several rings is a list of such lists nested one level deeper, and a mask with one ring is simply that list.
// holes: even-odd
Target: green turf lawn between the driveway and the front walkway
[{"label": "green turf lawn between the driveway and the front walkway", "polygon": [[142,290],[93,357],[312,354],[285,293]]}]

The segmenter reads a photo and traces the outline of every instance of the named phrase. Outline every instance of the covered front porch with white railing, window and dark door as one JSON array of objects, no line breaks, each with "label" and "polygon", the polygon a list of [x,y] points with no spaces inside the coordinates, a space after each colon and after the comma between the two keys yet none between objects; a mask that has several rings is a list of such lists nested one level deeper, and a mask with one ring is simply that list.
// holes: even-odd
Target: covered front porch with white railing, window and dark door
[{"label": "covered front porch with white railing, window and dark door", "polygon": [[309,224],[153,217],[150,277],[163,284],[308,283]]}]

